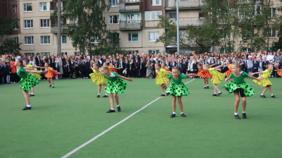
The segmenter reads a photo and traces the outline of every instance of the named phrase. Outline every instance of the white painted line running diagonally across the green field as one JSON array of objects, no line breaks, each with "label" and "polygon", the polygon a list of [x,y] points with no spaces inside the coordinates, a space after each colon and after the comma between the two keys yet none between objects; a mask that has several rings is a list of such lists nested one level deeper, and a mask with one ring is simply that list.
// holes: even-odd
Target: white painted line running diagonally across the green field
[{"label": "white painted line running diagonally across the green field", "polygon": [[[196,79],[196,78],[195,78]],[[193,80],[195,80],[193,79]],[[192,82],[193,80],[188,81],[187,83]],[[187,84],[185,83],[185,85]],[[127,116],[125,119],[123,119],[122,121],[119,121],[118,123],[116,123],[114,126],[111,126],[110,128],[104,130],[102,133],[100,133],[99,135],[96,135],[94,138],[92,138],[91,140],[88,140],[87,142],[83,143],[82,145],[80,145],[79,147],[76,147],[73,151],[68,152],[68,154],[64,155],[61,158],[66,158],[71,156],[71,154],[77,152],[78,150],[80,150],[82,147],[85,147],[85,145],[88,145],[90,142],[93,142],[94,140],[96,140],[97,138],[99,138],[100,136],[104,135],[104,133],[108,132],[109,130],[115,128],[116,126],[118,126],[119,124],[123,123],[124,121],[126,121],[127,119],[129,119],[130,117],[132,117],[133,115],[135,115],[136,113],[140,112],[142,109],[145,109],[146,107],[148,107],[150,104],[152,104],[153,102],[156,102],[158,99],[160,99],[161,97],[158,97],[157,99],[154,99],[152,102],[150,102],[149,104],[145,105],[144,107],[142,107],[141,109],[135,111],[133,114],[130,114],[130,116]]]}]

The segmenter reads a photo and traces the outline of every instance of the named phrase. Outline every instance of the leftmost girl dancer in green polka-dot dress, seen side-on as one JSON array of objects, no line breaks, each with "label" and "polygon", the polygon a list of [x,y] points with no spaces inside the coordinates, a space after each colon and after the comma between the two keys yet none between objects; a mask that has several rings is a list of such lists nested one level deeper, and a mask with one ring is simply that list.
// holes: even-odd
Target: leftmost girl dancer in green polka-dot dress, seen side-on
[{"label": "leftmost girl dancer in green polka-dot dress, seen side-on", "polygon": [[30,71],[25,70],[22,68],[23,61],[21,59],[16,59],[15,66],[17,68],[17,74],[20,76],[20,88],[23,90],[23,96],[25,97],[25,102],[27,103],[27,106],[23,108],[23,110],[31,109],[30,104],[30,97],[28,96],[28,91],[32,89],[32,87],[35,87],[39,83],[38,79],[35,78],[34,75],[31,75],[30,73],[44,73],[44,71]]}]

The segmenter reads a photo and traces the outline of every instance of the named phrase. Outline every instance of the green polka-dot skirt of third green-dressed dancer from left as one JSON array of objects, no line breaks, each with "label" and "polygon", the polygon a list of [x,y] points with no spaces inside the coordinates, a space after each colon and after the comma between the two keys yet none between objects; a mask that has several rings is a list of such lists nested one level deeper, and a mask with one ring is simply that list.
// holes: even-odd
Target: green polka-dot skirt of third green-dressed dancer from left
[{"label": "green polka-dot skirt of third green-dressed dancer from left", "polygon": [[189,95],[188,88],[184,85],[184,83],[180,83],[176,85],[171,83],[169,87],[166,89],[166,94],[173,95],[174,97],[181,97],[183,95]]}]

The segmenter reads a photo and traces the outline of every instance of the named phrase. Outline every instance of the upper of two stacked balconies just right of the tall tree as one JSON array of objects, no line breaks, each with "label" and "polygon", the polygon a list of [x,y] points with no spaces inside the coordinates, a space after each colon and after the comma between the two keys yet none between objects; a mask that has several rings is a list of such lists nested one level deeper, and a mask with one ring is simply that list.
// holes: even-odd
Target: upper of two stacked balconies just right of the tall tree
[{"label": "upper of two stacked balconies just right of the tall tree", "polygon": [[140,0],[120,0],[119,1],[119,12],[128,11],[142,11],[142,2]]}]

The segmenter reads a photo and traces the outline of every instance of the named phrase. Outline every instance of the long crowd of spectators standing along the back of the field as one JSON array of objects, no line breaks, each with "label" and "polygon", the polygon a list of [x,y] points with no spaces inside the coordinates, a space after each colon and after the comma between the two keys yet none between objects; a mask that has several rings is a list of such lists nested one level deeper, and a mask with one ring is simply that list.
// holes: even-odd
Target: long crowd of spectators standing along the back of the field
[{"label": "long crowd of spectators standing along the back of the field", "polygon": [[[93,73],[92,63],[98,63],[99,67],[103,63],[108,63],[108,66],[114,68],[114,72],[118,75],[123,75],[130,78],[148,78],[152,75],[156,77],[155,65],[157,63],[165,63],[166,68],[171,71],[173,66],[180,68],[180,73],[190,74],[198,73],[198,63],[202,65],[208,63],[212,67],[220,66],[230,61],[231,63],[240,63],[241,69],[248,73],[256,73],[266,70],[266,66],[272,64],[275,69],[281,69],[281,50],[278,51],[262,51],[259,52],[232,52],[219,54],[216,51],[211,53],[178,55],[175,54],[113,54],[106,55],[90,55],[88,53],[78,53],[75,56],[68,56],[67,54],[44,55],[37,53],[36,56],[16,55],[16,54],[2,54],[0,58],[0,84],[18,83],[20,77],[16,75],[16,66],[14,62],[16,59],[27,60],[30,65],[44,67],[45,63],[55,71],[61,73],[54,79],[61,80],[64,78],[82,79],[90,78],[89,74]],[[229,60],[227,60],[229,59]],[[216,64],[215,64],[216,63]],[[34,68],[37,70],[37,68]],[[43,70],[39,68],[39,70]],[[228,66],[221,67],[221,73],[228,71]],[[269,77],[280,78],[280,76],[273,71]],[[190,77],[192,78],[192,77]],[[194,77],[193,77],[194,78]],[[42,75],[39,80],[46,80]]]}]

